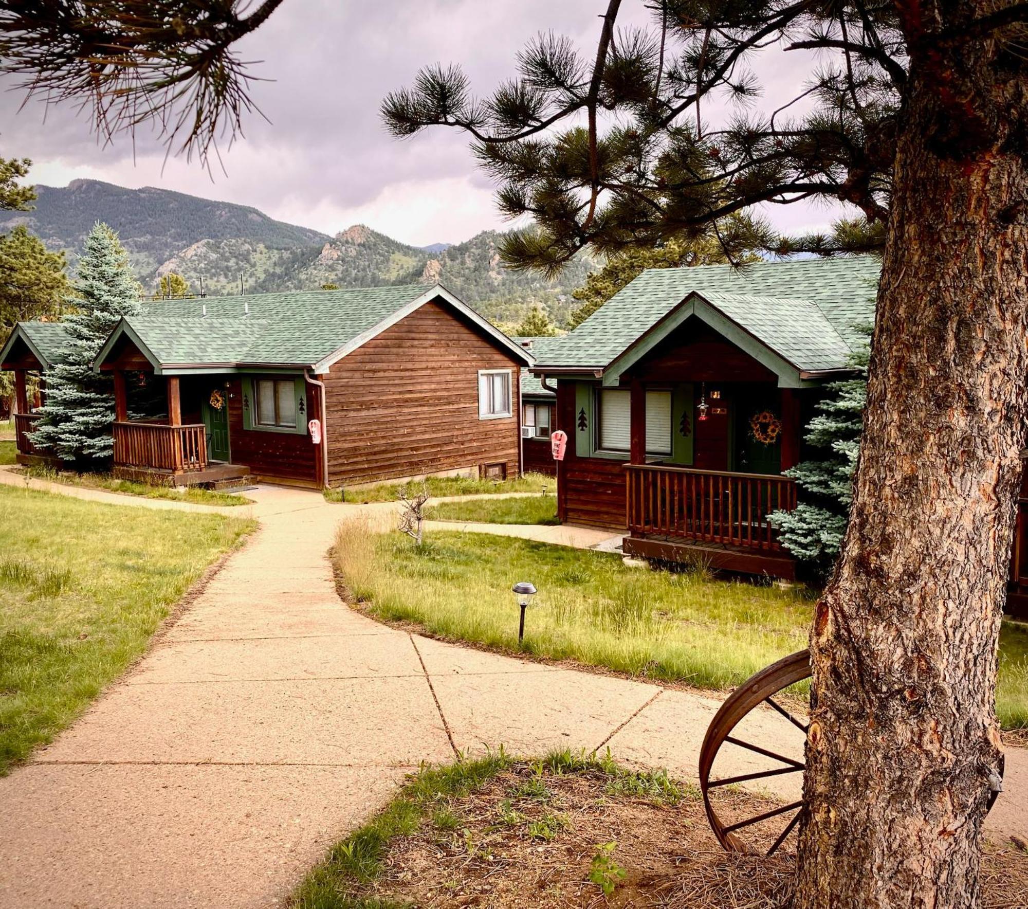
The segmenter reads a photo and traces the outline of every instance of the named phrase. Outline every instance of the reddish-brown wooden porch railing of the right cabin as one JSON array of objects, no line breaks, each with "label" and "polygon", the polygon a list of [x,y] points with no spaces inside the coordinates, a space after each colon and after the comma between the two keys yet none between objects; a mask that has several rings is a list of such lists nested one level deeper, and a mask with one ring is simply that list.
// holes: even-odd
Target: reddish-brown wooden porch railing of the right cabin
[{"label": "reddish-brown wooden porch railing of the right cabin", "polygon": [[796,481],[790,477],[641,464],[625,468],[632,536],[781,549],[767,515],[796,508]]}]

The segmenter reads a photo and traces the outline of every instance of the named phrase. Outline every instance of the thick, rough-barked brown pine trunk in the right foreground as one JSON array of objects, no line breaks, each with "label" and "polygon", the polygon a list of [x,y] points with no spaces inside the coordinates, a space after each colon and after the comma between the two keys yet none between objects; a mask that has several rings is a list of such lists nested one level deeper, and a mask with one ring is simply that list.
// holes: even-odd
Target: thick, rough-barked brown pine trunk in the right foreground
[{"label": "thick, rough-barked brown pine trunk in the right foreground", "polygon": [[1016,47],[946,46],[914,16],[995,8],[901,9],[911,81],[853,509],[811,632],[798,909],[980,900],[1028,415],[1028,80]]}]

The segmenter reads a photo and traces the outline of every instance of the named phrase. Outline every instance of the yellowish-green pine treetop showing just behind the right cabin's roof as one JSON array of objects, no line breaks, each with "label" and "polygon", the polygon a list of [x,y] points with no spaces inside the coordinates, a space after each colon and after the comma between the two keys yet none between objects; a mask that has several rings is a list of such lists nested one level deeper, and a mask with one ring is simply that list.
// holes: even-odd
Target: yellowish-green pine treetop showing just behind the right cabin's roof
[{"label": "yellowish-green pine treetop showing just behind the right cabin's roof", "polygon": [[[754,252],[739,250],[742,262],[760,260]],[[695,240],[671,238],[653,247],[629,247],[615,253],[598,271],[593,271],[580,288],[572,291],[580,305],[572,311],[568,327],[577,328],[603,305],[626,284],[638,278],[647,268],[683,268],[687,265],[719,265],[728,257],[713,239]]]}]

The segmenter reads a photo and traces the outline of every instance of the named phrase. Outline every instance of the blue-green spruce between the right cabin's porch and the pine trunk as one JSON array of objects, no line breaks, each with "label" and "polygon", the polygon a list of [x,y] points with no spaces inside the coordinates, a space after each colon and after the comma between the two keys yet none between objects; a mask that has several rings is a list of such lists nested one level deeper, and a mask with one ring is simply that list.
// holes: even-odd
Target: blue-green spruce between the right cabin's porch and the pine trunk
[{"label": "blue-green spruce between the right cabin's porch and the pine trunk", "polygon": [[[870,326],[864,331],[870,335]],[[785,471],[802,490],[799,505],[795,511],[769,515],[782,544],[821,576],[831,572],[842,551],[868,401],[868,349],[850,360],[858,374],[828,385],[827,397],[807,425],[806,440],[822,457]]]}]

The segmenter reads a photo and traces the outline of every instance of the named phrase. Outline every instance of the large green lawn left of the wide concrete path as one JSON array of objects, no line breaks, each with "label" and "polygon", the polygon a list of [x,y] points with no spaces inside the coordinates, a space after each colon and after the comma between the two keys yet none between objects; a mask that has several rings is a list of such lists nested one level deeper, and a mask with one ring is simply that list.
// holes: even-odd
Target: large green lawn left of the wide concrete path
[{"label": "large green lawn left of the wide concrete path", "polygon": [[120,675],[254,526],[0,486],[0,775]]}]

